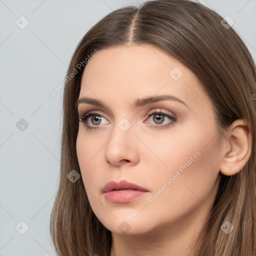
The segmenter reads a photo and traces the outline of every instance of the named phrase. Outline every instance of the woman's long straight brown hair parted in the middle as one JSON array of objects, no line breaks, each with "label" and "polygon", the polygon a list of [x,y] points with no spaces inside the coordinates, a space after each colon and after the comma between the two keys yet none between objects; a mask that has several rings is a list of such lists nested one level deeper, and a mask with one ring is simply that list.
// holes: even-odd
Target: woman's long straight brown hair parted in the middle
[{"label": "woman's long straight brown hair parted in the middle", "polygon": [[[60,180],[50,219],[57,255],[110,254],[111,232],[93,213],[82,179],[70,182],[67,178],[72,169],[81,174],[75,146],[78,132],[75,104],[86,61],[97,50],[142,43],[164,50],[196,75],[213,103],[220,131],[235,119],[247,121],[252,135],[250,158],[237,174],[221,176],[211,212],[197,239],[195,255],[255,253],[256,68],[245,44],[232,27],[223,26],[222,19],[197,2],[150,0],[140,6],[112,11],[80,40],[67,70],[68,77],[74,75],[66,80],[63,96]],[[228,235],[221,230],[226,220],[235,227]]]}]

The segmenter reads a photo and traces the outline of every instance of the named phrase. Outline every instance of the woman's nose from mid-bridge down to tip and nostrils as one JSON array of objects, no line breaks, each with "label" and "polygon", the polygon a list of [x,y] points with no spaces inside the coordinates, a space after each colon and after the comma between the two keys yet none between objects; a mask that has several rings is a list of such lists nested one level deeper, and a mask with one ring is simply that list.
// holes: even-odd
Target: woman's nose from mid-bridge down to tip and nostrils
[{"label": "woman's nose from mid-bridge down to tip and nostrils", "polygon": [[111,137],[105,146],[105,159],[108,164],[119,166],[122,164],[135,165],[139,161],[136,136],[130,127],[121,130],[118,125],[113,128]]}]

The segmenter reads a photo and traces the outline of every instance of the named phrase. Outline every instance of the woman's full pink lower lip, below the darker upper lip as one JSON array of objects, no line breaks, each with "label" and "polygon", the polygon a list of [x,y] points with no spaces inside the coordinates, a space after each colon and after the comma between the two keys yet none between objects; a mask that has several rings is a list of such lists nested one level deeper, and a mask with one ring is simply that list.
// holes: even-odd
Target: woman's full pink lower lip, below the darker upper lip
[{"label": "woman's full pink lower lip, below the darker upper lip", "polygon": [[138,197],[147,194],[148,191],[141,191],[136,189],[126,189],[126,190],[111,190],[105,192],[105,198],[110,202],[129,202]]}]

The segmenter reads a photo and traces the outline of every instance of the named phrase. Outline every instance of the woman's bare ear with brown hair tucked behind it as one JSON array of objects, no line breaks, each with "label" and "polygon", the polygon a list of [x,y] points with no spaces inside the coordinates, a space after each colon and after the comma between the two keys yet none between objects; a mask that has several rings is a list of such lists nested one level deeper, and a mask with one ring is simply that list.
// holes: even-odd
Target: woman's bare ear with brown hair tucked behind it
[{"label": "woman's bare ear with brown hair tucked behind it", "polygon": [[250,157],[251,132],[247,122],[243,119],[233,121],[225,137],[220,172],[229,176],[239,172]]}]

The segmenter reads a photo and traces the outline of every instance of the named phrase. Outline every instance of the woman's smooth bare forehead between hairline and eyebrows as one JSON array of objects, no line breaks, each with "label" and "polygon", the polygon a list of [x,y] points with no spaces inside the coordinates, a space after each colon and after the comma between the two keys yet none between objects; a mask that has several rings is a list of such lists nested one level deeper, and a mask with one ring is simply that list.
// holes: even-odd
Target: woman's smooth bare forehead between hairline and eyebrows
[{"label": "woman's smooth bare forehead between hairline and eyebrows", "polygon": [[106,100],[114,96],[115,103],[156,94],[171,94],[190,105],[208,101],[190,69],[149,44],[99,50],[87,63],[81,80],[80,96]]}]

